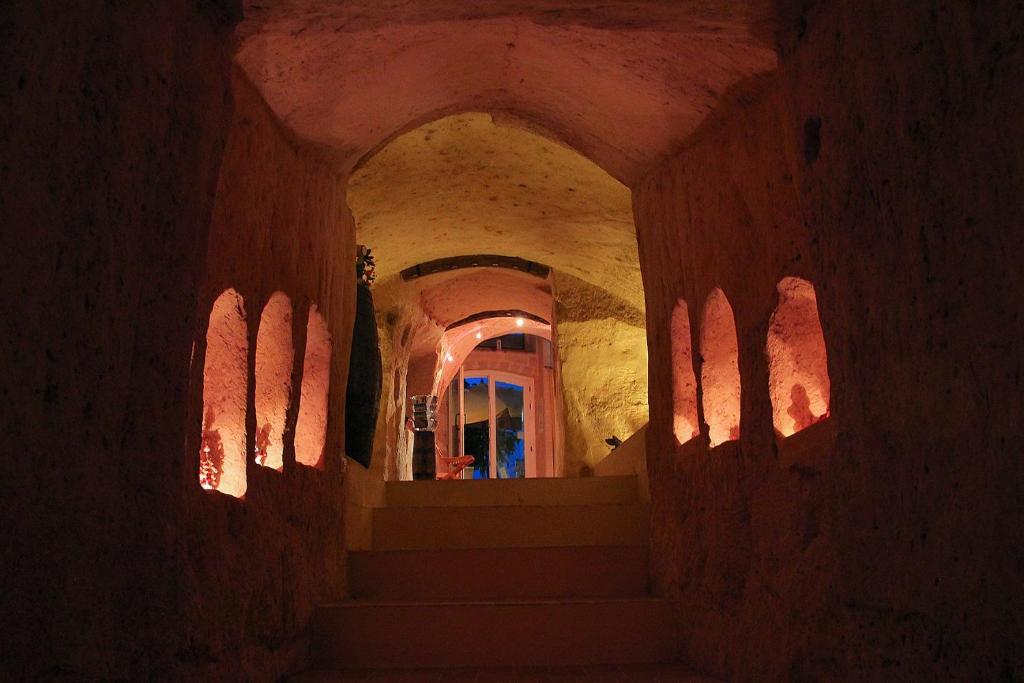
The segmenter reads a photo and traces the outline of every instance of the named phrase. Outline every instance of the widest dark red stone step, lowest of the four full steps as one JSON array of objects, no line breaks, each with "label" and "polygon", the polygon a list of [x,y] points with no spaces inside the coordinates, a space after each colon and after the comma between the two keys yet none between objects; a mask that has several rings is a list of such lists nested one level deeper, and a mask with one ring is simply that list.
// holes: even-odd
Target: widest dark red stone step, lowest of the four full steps
[{"label": "widest dark red stone step, lowest of the four full steps", "polygon": [[321,607],[317,670],[547,667],[672,661],[674,616],[658,598],[350,601]]}]

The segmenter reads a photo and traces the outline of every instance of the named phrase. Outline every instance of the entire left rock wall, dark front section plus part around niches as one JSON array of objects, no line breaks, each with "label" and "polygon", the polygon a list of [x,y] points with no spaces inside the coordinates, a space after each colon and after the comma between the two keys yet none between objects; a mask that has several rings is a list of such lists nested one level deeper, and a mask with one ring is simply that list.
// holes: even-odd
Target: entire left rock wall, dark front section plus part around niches
[{"label": "entire left rock wall, dark front section plus part around niches", "polygon": [[[336,357],[351,327],[350,281],[332,282],[335,260],[351,263],[337,253],[351,243],[343,183],[244,92],[232,124],[240,14],[227,1],[0,7],[0,415],[16,452],[0,474],[0,678],[272,679],[299,661],[311,605],[344,589],[325,543],[340,528],[337,457],[309,476],[250,471],[245,501],[197,480],[196,380],[224,283],[246,296],[250,349],[273,289],[296,306],[299,358],[309,300]],[[237,231],[208,260],[218,212]]]}]

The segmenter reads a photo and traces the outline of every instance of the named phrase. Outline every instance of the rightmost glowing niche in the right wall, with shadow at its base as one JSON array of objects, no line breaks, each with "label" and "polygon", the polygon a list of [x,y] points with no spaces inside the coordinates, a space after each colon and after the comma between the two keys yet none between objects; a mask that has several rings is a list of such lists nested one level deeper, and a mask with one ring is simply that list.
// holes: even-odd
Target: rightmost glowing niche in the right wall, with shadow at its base
[{"label": "rightmost glowing niche in the right wall, with shadow at its base", "polygon": [[825,341],[814,287],[806,280],[779,282],[765,350],[775,430],[790,436],[827,418]]}]

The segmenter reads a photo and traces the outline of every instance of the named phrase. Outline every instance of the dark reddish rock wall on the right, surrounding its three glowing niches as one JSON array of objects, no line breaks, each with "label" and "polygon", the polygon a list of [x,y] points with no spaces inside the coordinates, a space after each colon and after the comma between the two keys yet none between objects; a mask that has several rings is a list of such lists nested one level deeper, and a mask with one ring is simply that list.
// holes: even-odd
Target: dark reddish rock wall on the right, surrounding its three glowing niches
[{"label": "dark reddish rock wall on the right, surrounding its three glowing niches", "polygon": [[[635,188],[652,566],[697,666],[1024,676],[1022,31],[1019,3],[819,3],[779,73]],[[776,445],[764,348],[785,275],[817,291],[831,418]],[[709,452],[674,444],[668,330],[677,297],[699,311],[714,287],[742,424]]]}]

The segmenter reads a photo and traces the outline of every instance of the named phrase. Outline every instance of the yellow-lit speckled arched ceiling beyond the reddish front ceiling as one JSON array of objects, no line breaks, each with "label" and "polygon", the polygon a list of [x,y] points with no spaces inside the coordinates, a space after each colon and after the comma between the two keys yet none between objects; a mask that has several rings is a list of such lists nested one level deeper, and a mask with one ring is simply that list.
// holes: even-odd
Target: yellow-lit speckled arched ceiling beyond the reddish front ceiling
[{"label": "yellow-lit speckled arched ceiling beyond the reddish front ceiling", "polygon": [[[397,137],[355,171],[348,203],[382,283],[435,258],[503,254],[642,309],[630,190],[574,151],[489,115],[456,115]],[[469,290],[506,287],[477,280]]]}]

